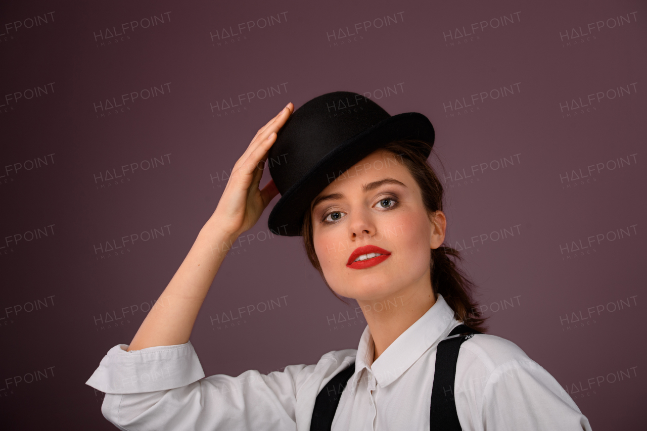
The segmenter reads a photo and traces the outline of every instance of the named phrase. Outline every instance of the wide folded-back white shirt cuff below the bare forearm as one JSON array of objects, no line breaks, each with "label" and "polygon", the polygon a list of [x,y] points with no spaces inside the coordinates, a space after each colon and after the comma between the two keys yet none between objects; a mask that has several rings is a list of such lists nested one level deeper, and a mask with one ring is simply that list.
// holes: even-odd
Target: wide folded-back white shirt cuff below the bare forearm
[{"label": "wide folded-back white shirt cuff below the bare forearm", "polygon": [[105,393],[140,393],[180,388],[204,377],[191,342],[127,348],[127,344],[111,348],[85,384]]}]

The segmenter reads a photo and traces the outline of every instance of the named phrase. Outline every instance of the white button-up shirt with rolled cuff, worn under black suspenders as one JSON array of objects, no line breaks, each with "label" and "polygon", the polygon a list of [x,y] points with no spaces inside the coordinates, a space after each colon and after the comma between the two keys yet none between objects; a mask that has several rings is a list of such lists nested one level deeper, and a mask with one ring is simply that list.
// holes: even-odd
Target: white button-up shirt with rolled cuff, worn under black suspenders
[{"label": "white button-up shirt with rolled cuff, worn under black suspenders", "polygon": [[[459,324],[441,295],[375,362],[364,329],[358,348],[331,351],[316,365],[262,375],[204,377],[190,342],[110,349],[86,382],[105,392],[102,412],[121,430],[310,429],[314,400],[349,364],[333,431],[429,430],[436,347]],[[546,370],[514,343],[475,335],[461,345],[455,403],[463,430],[590,430]]]}]

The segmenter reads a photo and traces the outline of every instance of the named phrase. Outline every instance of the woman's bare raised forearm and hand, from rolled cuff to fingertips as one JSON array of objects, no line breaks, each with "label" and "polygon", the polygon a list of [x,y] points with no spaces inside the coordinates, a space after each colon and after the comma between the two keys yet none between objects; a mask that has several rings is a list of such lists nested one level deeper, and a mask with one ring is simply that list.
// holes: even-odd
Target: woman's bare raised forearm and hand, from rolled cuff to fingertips
[{"label": "woman's bare raised forearm and hand, from rolled cuff to fingertips", "polygon": [[188,342],[204,298],[232,243],[252,228],[278,194],[274,181],[259,189],[276,133],[292,113],[291,103],[261,127],[234,164],[225,191],[182,265],[139,327],[128,351]]}]

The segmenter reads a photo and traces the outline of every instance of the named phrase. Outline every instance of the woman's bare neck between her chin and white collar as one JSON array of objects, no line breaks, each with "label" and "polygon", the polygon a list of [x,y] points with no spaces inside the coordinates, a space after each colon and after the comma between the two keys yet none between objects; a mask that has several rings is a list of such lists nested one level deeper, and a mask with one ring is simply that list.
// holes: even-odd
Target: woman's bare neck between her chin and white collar
[{"label": "woman's bare neck between her chin and white collar", "polygon": [[435,304],[430,278],[422,280],[384,298],[357,300],[371,329],[373,361]]}]

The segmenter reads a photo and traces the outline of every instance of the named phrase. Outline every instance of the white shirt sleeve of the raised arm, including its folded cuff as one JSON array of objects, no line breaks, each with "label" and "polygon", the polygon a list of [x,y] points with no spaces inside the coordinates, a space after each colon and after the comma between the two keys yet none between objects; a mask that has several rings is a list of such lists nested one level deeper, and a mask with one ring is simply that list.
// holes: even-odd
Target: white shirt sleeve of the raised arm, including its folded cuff
[{"label": "white shirt sleeve of the raised arm, including its folded cuff", "polygon": [[296,430],[297,388],[315,367],[205,378],[190,342],[127,347],[110,349],[86,382],[105,392],[102,413],[120,430]]}]

